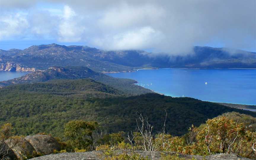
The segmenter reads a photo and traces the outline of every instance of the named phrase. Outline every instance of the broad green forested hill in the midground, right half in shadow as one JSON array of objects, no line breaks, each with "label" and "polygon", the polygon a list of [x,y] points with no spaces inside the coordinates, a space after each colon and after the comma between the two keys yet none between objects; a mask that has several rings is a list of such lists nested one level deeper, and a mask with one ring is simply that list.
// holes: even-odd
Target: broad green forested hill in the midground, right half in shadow
[{"label": "broad green forested hill in the midground, right half in shadow", "polygon": [[68,121],[95,120],[108,132],[131,131],[135,130],[135,119],[141,112],[157,133],[162,130],[166,110],[168,133],[183,135],[192,124],[199,126],[225,112],[256,117],[255,112],[193,98],[160,94],[122,97],[119,93],[90,79],[7,86],[0,89],[0,126],[12,123],[17,135],[45,132],[62,137],[63,126]]}]

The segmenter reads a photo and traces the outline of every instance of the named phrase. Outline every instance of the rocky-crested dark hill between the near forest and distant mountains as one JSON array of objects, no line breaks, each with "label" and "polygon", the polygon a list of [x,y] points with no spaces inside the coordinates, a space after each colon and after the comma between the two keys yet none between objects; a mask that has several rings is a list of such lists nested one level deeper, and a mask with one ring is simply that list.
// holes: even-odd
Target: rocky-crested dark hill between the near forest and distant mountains
[{"label": "rocky-crested dark hill between the near forest and distant mountains", "polygon": [[84,79],[90,78],[95,81],[102,82],[103,84],[114,87],[119,90],[123,95],[137,95],[152,93],[151,90],[134,85],[135,80],[132,79],[120,79],[107,76],[103,73],[92,71],[87,67],[50,67],[44,71],[35,71],[19,78],[11,79],[8,81],[1,81],[0,87],[23,84],[23,83],[35,83],[44,82],[53,79]]}]

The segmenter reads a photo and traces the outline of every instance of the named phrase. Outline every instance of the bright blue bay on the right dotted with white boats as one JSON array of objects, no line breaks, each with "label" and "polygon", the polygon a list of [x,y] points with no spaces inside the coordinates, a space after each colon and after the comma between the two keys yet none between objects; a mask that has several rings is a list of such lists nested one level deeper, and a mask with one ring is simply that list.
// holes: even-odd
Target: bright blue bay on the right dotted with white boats
[{"label": "bright blue bay on the right dotted with white boats", "polygon": [[256,69],[143,69],[111,73],[172,97],[256,105]]}]

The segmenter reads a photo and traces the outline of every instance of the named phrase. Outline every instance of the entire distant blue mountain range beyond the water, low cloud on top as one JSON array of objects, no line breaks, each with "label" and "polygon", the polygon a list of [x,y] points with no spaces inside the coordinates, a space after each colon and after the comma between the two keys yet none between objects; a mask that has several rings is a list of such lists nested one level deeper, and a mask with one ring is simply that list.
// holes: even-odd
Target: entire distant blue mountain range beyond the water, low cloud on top
[{"label": "entire distant blue mountain range beyond the water, low cloud on top", "polygon": [[0,50],[1,71],[44,70],[51,66],[86,66],[94,71],[133,71],[135,68],[256,68],[256,53],[230,48],[195,46],[183,55],[143,50],[104,51],[88,46],[55,43],[24,50]]}]

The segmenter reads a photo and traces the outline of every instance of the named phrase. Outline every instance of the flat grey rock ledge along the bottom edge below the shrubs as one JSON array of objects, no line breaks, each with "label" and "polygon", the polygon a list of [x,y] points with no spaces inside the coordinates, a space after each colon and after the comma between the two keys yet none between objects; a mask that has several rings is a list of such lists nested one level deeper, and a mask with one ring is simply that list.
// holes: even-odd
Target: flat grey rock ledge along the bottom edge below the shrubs
[{"label": "flat grey rock ledge along the bottom edge below the shrubs", "polygon": [[[121,152],[120,152],[121,153]],[[140,154],[141,156],[151,157],[151,153],[147,151],[135,151],[135,153]],[[101,151],[90,151],[90,152],[80,152],[80,153],[60,153],[60,154],[50,154],[46,156],[36,157],[31,160],[103,160],[100,156]],[[155,160],[159,160],[161,154],[171,154],[176,155],[177,152],[156,152]],[[197,155],[184,155],[179,154],[180,158],[192,159],[194,157],[197,160],[250,160],[248,158],[244,158],[238,156],[236,154],[215,154],[210,156],[197,156]]]}]

